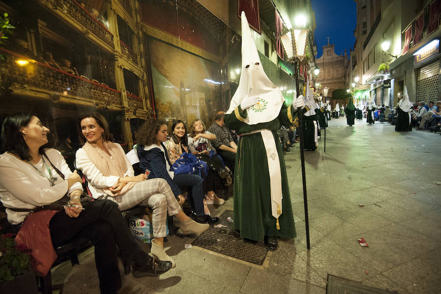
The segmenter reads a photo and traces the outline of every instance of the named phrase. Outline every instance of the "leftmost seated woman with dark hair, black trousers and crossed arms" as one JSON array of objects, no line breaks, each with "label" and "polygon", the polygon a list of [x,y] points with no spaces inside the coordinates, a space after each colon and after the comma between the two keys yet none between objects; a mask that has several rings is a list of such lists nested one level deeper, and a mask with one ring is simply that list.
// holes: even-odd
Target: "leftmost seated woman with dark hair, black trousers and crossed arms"
[{"label": "leftmost seated woman with dark hair, black trousers and crossed arms", "polygon": [[101,293],[121,288],[117,246],[124,260],[134,262],[134,277],[169,270],[171,262],[154,261],[136,243],[117,205],[107,200],[81,203],[79,175],[69,170],[60,152],[43,148],[48,133],[30,114],[11,115],[1,127],[6,152],[0,155],[0,199],[18,231],[16,242],[32,249],[37,274],[49,272],[56,259],[54,247],[75,237],[95,246]]}]

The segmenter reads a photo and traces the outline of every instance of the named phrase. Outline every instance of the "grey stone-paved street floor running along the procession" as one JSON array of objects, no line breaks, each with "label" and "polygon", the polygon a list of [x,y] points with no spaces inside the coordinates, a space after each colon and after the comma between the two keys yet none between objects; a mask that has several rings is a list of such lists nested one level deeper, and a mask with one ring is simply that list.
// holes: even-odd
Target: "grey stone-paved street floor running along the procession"
[{"label": "grey stone-paved street floor running along the procession", "polygon": [[[297,144],[285,156],[297,238],[280,240],[257,266],[185,249],[193,239],[173,236],[165,245],[176,268],[140,279],[122,271],[119,293],[324,294],[328,273],[403,294],[441,293],[441,186],[433,183],[441,181],[440,135],[397,133],[389,123],[349,127],[340,118],[329,122],[326,153],[323,141],[305,151],[311,250]],[[233,199],[209,207],[219,215]],[[99,293],[93,248],[79,260],[53,269],[53,284],[64,283],[63,293]]]}]

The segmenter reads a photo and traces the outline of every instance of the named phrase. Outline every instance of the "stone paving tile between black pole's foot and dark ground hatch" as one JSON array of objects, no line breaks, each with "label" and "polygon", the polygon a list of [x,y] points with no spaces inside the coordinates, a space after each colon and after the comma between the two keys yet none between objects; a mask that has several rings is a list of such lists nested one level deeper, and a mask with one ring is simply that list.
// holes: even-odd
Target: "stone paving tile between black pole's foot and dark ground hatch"
[{"label": "stone paving tile between black pole's foot and dark ground hatch", "polygon": [[379,273],[368,261],[363,262],[340,245],[329,240],[309,251],[298,252],[297,255],[323,279],[326,279],[330,273],[360,282],[366,278],[366,270],[371,274]]}]

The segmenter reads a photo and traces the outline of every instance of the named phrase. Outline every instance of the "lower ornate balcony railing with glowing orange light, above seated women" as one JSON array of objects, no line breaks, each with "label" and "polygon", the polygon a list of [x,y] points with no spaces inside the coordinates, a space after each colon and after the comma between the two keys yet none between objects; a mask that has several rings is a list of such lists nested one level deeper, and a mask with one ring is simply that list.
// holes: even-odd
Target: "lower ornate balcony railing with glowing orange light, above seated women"
[{"label": "lower ornate balcony railing with glowing orange light, above seated women", "polygon": [[[31,92],[36,90],[38,92],[35,93],[36,97],[41,97],[37,95],[41,92],[47,92],[50,97],[57,97],[56,100],[64,96],[91,101],[98,108],[109,108],[111,105],[122,107],[120,91],[3,48],[0,48],[0,52],[8,57],[0,63],[2,86],[5,88],[16,89],[19,85],[20,91],[23,89],[30,96],[32,96]],[[19,65],[18,60],[22,61],[22,65]]]}]

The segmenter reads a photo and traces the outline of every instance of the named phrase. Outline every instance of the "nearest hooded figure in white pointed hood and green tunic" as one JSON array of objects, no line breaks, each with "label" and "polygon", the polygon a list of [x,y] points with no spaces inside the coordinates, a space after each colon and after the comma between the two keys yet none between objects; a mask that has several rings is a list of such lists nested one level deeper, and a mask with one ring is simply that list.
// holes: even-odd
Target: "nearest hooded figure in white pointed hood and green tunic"
[{"label": "nearest hooded figure in white pointed hood and green tunic", "polygon": [[[224,123],[241,135],[234,172],[234,227],[250,242],[294,238],[295,225],[282,147],[276,131],[290,126],[305,105],[303,97],[287,106],[280,89],[262,67],[242,12],[242,73]],[[308,111],[305,108],[302,111]],[[257,172],[258,171],[258,172]]]}]

